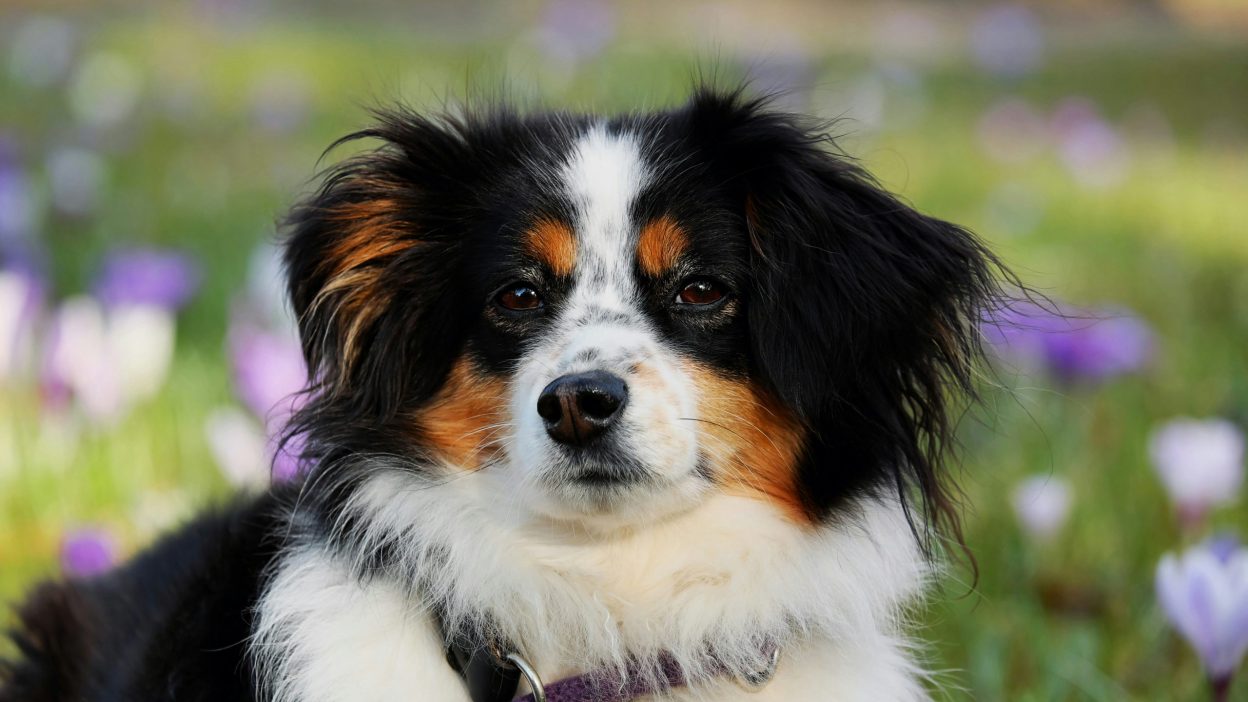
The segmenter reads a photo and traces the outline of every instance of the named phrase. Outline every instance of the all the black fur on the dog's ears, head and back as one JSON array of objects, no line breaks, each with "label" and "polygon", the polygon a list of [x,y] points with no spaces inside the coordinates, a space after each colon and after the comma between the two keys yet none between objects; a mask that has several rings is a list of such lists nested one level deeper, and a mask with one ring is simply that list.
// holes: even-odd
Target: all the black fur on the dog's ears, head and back
[{"label": "all the black fur on the dog's ears, head and back", "polygon": [[[540,335],[540,315],[490,319],[482,302],[517,270],[555,301],[565,290],[513,235],[542,217],[568,219],[572,205],[547,169],[588,124],[558,112],[393,111],[348,137],[381,145],[333,169],[288,222],[290,295],[312,378],[290,436],[305,441],[308,477],[207,515],[109,576],[42,586],[21,612],[20,660],[0,668],[0,702],[252,700],[251,608],[293,505],[301,538],[352,548],[341,508],[367,477],[357,458],[402,456],[419,471],[426,448],[411,416],[454,360],[467,353],[505,376]],[[690,232],[696,270],[734,290],[718,316],[653,302],[651,321],[800,418],[807,513],[832,518],[847,497],[896,491],[922,506],[917,535],[957,536],[941,475],[947,402],[973,391],[976,325],[1003,274],[992,255],[881,190],[817,126],[740,92],[701,91],[609,129],[643,135],[659,165],[634,204],[638,219],[674,216]],[[349,226],[363,225],[348,226],[343,212],[373,212],[368,226],[394,239],[346,279],[334,259]],[[638,279],[653,301],[676,282]],[[343,282],[356,280],[367,287]],[[366,307],[367,316],[344,314]],[[373,563],[386,561],[383,545]]]}]

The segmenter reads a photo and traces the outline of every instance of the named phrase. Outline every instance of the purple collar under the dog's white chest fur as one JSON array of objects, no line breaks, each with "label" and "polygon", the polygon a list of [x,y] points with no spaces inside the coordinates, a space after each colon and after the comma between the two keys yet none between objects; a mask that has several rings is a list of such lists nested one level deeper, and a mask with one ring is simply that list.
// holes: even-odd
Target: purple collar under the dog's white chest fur
[{"label": "purple collar under the dog's white chest fur", "polygon": [[[776,665],[780,662],[780,647],[770,645],[764,648],[763,653],[768,661],[766,668],[746,675],[734,675],[739,685],[749,690],[761,690],[771,682]],[[664,658],[661,675],[653,681],[649,677],[634,675],[622,680],[614,671],[599,670],[548,685],[542,682],[537,671],[524,657],[510,653],[507,656],[507,661],[519,668],[520,675],[534,691],[520,697],[517,702],[629,702],[638,697],[658,695],[674,687],[685,686],[680,666],[670,658]],[[720,675],[731,675],[724,666],[716,666],[716,668]]]}]

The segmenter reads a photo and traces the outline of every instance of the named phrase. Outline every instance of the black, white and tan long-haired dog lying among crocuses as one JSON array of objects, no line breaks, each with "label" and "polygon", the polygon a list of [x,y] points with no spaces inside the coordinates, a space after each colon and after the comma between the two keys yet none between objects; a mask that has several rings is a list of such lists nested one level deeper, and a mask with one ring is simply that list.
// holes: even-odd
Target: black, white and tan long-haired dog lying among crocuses
[{"label": "black, white and tan long-haired dog lying among crocuses", "polygon": [[379,111],[288,217],[305,476],[37,588],[0,700],[927,698],[1005,270],[824,129]]}]

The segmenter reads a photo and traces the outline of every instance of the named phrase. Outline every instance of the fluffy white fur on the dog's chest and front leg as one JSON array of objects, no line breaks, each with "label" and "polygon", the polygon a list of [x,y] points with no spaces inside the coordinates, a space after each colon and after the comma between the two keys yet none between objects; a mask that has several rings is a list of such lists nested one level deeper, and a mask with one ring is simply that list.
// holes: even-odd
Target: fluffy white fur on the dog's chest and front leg
[{"label": "fluffy white fur on the dog's chest and front leg", "polygon": [[[544,680],[659,653],[698,677],[708,647],[745,667],[766,637],[784,655],[764,691],[701,671],[710,682],[669,698],[924,697],[897,631],[925,567],[894,507],[871,505],[847,526],[811,532],[760,502],[713,497],[679,518],[604,540],[466,512],[446,495],[402,496],[384,476],[373,487],[362,497],[369,523],[411,525],[402,530],[411,577],[449,603],[452,621],[497,622]],[[429,543],[439,545],[437,557],[419,546]],[[275,701],[468,702],[411,588],[352,573],[317,547],[280,567],[252,643]]]}]

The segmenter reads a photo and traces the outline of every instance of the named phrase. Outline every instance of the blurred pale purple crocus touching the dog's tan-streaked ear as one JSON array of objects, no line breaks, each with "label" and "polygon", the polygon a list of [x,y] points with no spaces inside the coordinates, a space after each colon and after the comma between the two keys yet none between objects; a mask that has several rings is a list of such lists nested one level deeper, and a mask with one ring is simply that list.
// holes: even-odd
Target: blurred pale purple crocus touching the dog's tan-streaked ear
[{"label": "blurred pale purple crocus touching the dog's tan-streaked ear", "polygon": [[307,385],[307,366],[298,339],[236,322],[230,330],[230,365],[235,392],[265,421],[270,435],[277,433],[275,428],[303,402],[300,391]]}]

